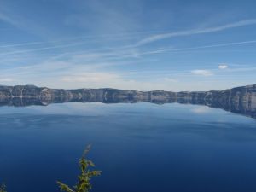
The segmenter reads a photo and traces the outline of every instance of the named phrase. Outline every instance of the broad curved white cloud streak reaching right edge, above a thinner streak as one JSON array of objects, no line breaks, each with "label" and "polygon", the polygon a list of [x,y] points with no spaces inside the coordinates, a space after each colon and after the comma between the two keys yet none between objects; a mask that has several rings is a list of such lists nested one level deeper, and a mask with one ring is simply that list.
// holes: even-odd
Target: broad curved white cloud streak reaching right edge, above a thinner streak
[{"label": "broad curved white cloud streak reaching right edge, above a thinner streak", "polygon": [[150,44],[155,41],[159,41],[166,38],[174,38],[174,37],[180,37],[180,36],[189,36],[189,35],[195,35],[195,34],[201,34],[201,33],[210,33],[210,32],[221,32],[230,28],[236,28],[240,26],[250,26],[255,25],[256,19],[252,20],[241,20],[235,23],[226,24],[224,26],[215,26],[215,27],[209,27],[205,29],[193,29],[188,31],[181,31],[181,32],[169,32],[169,33],[163,33],[163,34],[157,34],[154,36],[150,36],[148,38],[143,38],[141,41],[137,42],[137,46],[143,45],[143,44]]}]

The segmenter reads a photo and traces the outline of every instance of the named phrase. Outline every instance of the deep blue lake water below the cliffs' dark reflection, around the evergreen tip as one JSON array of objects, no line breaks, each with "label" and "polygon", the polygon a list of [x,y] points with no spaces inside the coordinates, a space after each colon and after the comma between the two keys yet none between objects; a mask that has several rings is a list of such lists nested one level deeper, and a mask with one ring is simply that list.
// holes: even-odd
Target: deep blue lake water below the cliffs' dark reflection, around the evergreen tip
[{"label": "deep blue lake water below the cliffs' dark reflection, around the evergreen tip", "polygon": [[256,191],[256,119],[206,106],[61,103],[0,108],[0,182],[59,191],[78,160],[102,170],[93,192]]}]

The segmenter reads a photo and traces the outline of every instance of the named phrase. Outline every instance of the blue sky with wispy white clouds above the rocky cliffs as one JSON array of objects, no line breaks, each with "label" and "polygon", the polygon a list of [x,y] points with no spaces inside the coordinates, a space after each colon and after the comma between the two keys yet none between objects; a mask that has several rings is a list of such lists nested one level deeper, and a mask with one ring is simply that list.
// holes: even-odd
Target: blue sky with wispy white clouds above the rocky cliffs
[{"label": "blue sky with wispy white clouds above the rocky cliffs", "polygon": [[0,84],[256,84],[255,8],[254,0],[0,0]]}]

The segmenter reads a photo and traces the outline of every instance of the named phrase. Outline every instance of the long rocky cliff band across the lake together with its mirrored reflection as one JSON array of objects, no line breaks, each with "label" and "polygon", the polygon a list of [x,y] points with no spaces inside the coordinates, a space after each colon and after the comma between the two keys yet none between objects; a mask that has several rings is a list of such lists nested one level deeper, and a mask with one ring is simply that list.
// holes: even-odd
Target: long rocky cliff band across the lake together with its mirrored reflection
[{"label": "long rocky cliff band across the lake together with its mirrored reflection", "polygon": [[56,102],[179,102],[223,108],[256,118],[256,84],[230,90],[171,92],[115,89],[55,90],[46,87],[0,86],[0,105],[48,105]]}]

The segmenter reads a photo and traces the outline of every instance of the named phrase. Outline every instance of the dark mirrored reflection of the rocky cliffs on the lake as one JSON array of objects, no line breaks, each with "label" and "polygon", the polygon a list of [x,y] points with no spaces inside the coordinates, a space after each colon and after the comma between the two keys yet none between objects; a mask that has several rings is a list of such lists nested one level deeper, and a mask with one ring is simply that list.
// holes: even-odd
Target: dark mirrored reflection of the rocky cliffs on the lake
[{"label": "dark mirrored reflection of the rocky cliffs on the lake", "polygon": [[[228,98],[202,98],[200,96],[195,97],[166,97],[160,99],[148,99],[137,97],[123,97],[115,98],[112,96],[91,96],[91,97],[54,97],[54,98],[4,98],[0,100],[0,106],[15,106],[26,107],[32,105],[47,106],[52,103],[65,103],[65,102],[102,102],[102,103],[136,103],[136,102],[150,102],[155,104],[165,103],[182,103],[182,104],[194,104],[203,105],[210,108],[221,108],[231,113],[238,113],[252,117],[256,119],[256,95],[243,96],[243,99],[236,99],[236,96]],[[197,113],[202,113],[200,108]]]}]

